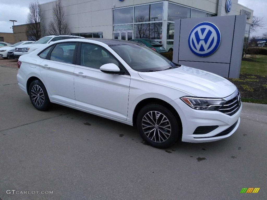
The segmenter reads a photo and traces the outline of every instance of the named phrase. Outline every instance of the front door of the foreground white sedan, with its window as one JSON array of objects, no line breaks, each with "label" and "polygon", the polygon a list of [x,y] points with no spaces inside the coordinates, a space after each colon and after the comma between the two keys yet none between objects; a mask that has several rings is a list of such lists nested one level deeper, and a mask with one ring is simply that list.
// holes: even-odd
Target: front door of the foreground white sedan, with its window
[{"label": "front door of the foreground white sedan, with its window", "polygon": [[76,106],[110,117],[126,120],[130,76],[105,74],[100,67],[114,63],[124,70],[120,63],[106,49],[88,43],[81,43],[74,70]]}]

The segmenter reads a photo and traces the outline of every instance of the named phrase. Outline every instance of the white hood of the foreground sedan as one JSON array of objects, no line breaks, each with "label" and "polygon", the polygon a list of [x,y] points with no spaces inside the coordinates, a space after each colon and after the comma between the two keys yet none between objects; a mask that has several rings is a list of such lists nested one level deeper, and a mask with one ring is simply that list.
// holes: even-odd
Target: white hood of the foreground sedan
[{"label": "white hood of the foreground sedan", "polygon": [[237,87],[227,79],[192,67],[139,72],[141,78],[185,91],[196,97],[224,98],[234,93]]}]

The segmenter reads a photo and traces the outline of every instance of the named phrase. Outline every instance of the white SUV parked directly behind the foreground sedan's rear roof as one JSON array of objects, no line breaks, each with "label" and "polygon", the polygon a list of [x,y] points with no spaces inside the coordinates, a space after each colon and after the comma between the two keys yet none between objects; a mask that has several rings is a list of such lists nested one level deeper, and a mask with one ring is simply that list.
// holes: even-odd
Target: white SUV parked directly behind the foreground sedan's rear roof
[{"label": "white SUV parked directly behind the foreground sedan's rear roof", "polygon": [[33,42],[32,44],[30,44],[28,46],[15,48],[14,58],[18,59],[21,55],[28,54],[28,53],[30,53],[30,52],[32,52],[32,51],[34,51],[40,47],[43,47],[45,44],[52,43],[52,42],[62,40],[62,39],[71,39],[71,38],[84,38],[84,37],[80,37],[80,36],[76,36],[76,35],[49,35],[49,36],[45,36],[45,37],[40,38],[36,42]]}]

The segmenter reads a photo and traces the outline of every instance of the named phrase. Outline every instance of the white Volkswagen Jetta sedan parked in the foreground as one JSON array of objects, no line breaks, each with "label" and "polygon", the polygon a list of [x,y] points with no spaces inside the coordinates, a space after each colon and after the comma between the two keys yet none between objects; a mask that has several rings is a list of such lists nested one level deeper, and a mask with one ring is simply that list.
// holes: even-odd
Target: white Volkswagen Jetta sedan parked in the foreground
[{"label": "white Volkswagen Jetta sedan parked in the foreground", "polygon": [[51,103],[128,125],[151,146],[232,135],[242,104],[233,83],[181,66],[149,47],[114,39],[66,39],[18,61],[18,85],[38,110]]}]

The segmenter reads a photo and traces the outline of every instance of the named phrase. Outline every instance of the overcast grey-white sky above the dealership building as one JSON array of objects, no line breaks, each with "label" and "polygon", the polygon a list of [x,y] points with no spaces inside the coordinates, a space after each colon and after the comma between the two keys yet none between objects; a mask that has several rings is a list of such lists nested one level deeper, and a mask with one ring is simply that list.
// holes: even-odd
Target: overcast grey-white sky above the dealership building
[{"label": "overcast grey-white sky above the dealership building", "polygon": [[[50,2],[51,0],[39,0],[40,3]],[[25,24],[27,14],[29,12],[29,3],[32,0],[0,0],[0,32],[3,33],[13,33],[10,27],[13,22],[9,20],[17,20],[14,25]],[[258,29],[257,33],[252,33],[251,35],[260,36],[262,33],[267,32],[267,0],[238,0],[238,3],[249,7],[254,10],[254,15],[258,17],[263,17],[265,29]]]}]

